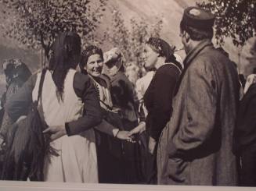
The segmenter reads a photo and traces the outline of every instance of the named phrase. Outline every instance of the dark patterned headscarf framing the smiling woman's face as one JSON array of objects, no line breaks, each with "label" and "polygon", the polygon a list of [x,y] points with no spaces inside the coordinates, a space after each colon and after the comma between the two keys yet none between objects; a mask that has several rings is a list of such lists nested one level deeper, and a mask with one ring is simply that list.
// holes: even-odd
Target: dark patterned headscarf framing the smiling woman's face
[{"label": "dark patterned headscarf framing the smiling woman's face", "polygon": [[81,68],[81,70],[84,70],[85,68],[85,65],[87,64],[88,62],[88,58],[91,56],[91,55],[99,55],[100,58],[102,58],[102,60],[104,59],[103,58],[103,50],[101,48],[98,48],[94,45],[89,45],[88,47],[85,48],[84,51],[82,51],[81,53],[81,61],[79,63],[79,66]]}]

